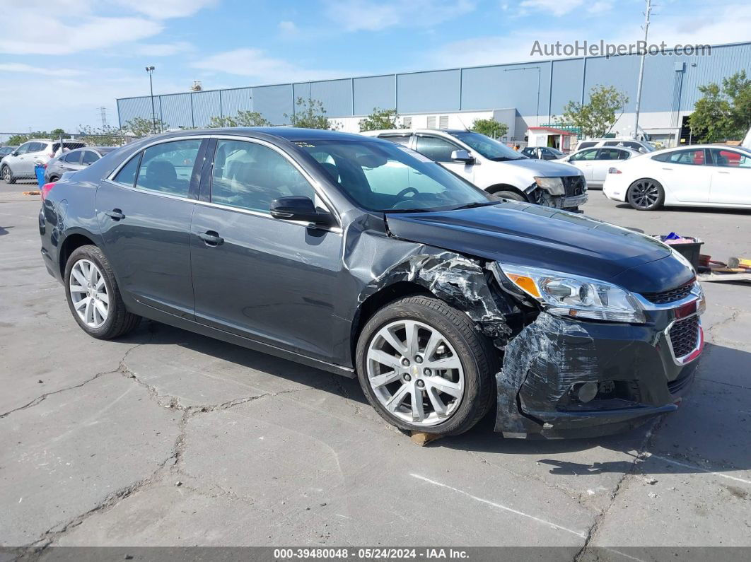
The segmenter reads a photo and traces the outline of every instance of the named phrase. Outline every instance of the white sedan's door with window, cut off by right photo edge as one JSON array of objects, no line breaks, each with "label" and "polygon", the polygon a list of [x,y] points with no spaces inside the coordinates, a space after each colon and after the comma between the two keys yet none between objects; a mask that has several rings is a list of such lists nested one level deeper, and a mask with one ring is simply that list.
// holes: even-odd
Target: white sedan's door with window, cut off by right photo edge
[{"label": "white sedan's door with window, cut off by right photo edge", "polygon": [[751,155],[728,149],[709,152],[712,169],[709,202],[751,206]]}]

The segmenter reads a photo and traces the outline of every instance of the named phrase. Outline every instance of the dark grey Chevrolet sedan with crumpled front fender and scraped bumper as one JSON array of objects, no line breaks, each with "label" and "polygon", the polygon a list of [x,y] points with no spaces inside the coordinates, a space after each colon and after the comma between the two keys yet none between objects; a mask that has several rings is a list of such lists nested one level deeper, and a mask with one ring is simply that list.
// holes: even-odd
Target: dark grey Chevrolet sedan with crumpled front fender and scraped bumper
[{"label": "dark grey Chevrolet sedan with crumpled front fender and scraped bumper", "polygon": [[667,245],[385,140],[179,131],[42,197],[42,259],[87,334],[147,317],[358,377],[405,430],[494,404],[514,437],[631,428],[677,409],[701,353],[701,287]]}]

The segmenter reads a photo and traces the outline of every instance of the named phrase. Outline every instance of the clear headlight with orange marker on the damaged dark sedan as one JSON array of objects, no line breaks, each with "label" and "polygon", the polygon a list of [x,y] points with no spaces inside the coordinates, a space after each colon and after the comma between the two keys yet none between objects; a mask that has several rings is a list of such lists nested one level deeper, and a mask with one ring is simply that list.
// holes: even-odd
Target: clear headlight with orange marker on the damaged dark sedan
[{"label": "clear headlight with orange marker on the damaged dark sedan", "polygon": [[549,314],[635,324],[646,321],[634,296],[617,285],[536,267],[496,265],[514,287]]}]

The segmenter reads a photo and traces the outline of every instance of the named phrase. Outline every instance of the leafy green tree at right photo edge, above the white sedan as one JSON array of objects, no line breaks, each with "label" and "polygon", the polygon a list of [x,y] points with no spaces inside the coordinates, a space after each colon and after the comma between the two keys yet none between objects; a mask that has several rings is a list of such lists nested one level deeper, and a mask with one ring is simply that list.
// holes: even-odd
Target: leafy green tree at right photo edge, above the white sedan
[{"label": "leafy green tree at right photo edge, above the white sedan", "polygon": [[702,97],[689,117],[694,134],[706,143],[740,140],[751,128],[751,80],[740,71],[716,83],[699,86]]}]

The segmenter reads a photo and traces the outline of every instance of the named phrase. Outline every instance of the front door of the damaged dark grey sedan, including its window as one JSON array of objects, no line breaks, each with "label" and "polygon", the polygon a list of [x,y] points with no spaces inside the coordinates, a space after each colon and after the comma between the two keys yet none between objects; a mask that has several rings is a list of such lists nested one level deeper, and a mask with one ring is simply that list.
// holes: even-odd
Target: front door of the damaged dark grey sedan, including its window
[{"label": "front door of the damaged dark grey sedan, including its window", "polygon": [[269,212],[277,197],[316,200],[310,183],[265,143],[217,140],[203,188],[210,203],[196,206],[191,227],[196,320],[330,359],[342,233]]}]

